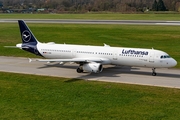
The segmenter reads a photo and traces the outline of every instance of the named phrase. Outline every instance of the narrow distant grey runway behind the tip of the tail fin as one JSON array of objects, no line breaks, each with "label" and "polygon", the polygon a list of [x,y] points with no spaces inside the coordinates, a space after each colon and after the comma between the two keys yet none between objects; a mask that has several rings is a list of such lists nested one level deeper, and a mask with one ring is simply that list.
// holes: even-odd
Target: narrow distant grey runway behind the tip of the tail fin
[{"label": "narrow distant grey runway behind the tip of the tail fin", "polygon": [[[0,23],[17,23],[19,19],[0,19]],[[84,19],[24,19],[26,23],[56,24],[131,24],[131,25],[180,25],[180,21],[160,20],[84,20]]]}]

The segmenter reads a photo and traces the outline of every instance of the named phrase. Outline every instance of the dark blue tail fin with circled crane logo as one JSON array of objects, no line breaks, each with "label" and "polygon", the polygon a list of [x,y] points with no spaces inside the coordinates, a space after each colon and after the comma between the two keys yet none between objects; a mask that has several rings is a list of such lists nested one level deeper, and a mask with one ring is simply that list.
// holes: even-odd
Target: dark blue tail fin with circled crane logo
[{"label": "dark blue tail fin with circled crane logo", "polygon": [[26,23],[23,20],[18,20],[18,23],[22,39],[22,49],[33,54],[42,56],[37,48],[37,44],[39,42],[31,32],[31,30],[28,28]]}]

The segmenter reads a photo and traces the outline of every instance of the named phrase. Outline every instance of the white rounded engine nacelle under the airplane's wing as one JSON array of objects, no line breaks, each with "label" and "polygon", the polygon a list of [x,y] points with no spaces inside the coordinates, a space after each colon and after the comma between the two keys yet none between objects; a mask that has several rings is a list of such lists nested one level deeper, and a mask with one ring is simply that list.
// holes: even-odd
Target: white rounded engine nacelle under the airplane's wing
[{"label": "white rounded engine nacelle under the airplane's wing", "polygon": [[95,63],[95,62],[86,63],[82,66],[82,68],[87,72],[94,72],[94,73],[99,73],[102,72],[103,70],[102,65],[100,63]]}]

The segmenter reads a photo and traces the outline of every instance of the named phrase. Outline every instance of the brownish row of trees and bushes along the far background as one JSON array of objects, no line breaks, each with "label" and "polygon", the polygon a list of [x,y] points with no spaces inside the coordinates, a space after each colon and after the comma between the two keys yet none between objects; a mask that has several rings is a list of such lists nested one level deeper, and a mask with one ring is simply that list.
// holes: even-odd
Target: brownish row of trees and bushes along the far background
[{"label": "brownish row of trees and bushes along the far background", "polygon": [[0,0],[3,9],[38,9],[49,12],[179,11],[180,0]]}]

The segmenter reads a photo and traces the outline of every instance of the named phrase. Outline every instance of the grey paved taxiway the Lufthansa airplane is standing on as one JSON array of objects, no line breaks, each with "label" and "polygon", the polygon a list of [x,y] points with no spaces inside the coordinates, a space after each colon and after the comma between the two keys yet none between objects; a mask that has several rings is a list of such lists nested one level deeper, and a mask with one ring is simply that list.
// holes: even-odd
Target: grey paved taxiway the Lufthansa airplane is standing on
[{"label": "grey paved taxiway the Lufthansa airplane is standing on", "polygon": [[29,63],[27,58],[0,56],[0,71],[4,72],[180,88],[180,70],[177,69],[157,69],[157,76],[151,76],[150,68],[108,65],[101,73],[95,74],[77,73],[77,67],[77,64]]}]

